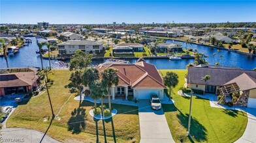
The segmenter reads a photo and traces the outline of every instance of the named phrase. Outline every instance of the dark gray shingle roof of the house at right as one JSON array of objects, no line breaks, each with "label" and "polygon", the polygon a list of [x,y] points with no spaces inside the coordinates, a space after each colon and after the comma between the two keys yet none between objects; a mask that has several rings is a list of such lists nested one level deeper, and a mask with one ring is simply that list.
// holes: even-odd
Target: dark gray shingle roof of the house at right
[{"label": "dark gray shingle roof of the house at right", "polygon": [[[227,68],[208,68],[208,67],[189,67],[187,73],[187,83],[194,83],[199,85],[214,85],[221,86],[228,83],[232,79],[246,73],[250,77],[256,78],[256,71],[253,70],[239,70]],[[189,81],[189,75],[191,81]],[[208,81],[201,81],[201,77],[210,75],[211,79]]]}]

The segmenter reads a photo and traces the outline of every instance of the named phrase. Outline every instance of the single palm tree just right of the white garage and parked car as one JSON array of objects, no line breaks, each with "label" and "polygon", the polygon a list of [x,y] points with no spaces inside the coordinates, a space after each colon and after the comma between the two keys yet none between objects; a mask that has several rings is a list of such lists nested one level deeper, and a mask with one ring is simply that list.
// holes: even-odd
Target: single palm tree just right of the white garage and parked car
[{"label": "single palm tree just right of the white garage and parked car", "polygon": [[179,83],[178,78],[179,77],[178,77],[177,73],[174,73],[174,72],[167,72],[167,75],[165,75],[165,77],[163,77],[163,82],[164,82],[165,86],[167,86],[169,88],[169,96],[171,93],[171,88],[172,87],[174,88],[176,85],[178,85],[178,83]]}]

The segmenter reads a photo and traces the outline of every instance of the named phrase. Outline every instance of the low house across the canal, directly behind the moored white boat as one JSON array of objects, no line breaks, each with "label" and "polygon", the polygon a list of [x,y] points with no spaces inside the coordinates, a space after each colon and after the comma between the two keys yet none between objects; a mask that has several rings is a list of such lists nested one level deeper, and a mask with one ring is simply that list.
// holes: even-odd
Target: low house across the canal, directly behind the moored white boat
[{"label": "low house across the canal, directly behind the moored white boat", "polygon": [[155,46],[157,49],[157,52],[182,52],[182,46],[178,46],[177,44],[168,44],[168,43],[159,43]]}]

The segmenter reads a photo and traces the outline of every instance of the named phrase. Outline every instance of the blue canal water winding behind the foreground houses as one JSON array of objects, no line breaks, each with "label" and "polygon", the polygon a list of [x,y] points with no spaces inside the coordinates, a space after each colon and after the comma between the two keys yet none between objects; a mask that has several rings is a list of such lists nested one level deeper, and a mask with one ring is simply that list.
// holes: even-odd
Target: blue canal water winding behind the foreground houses
[{"label": "blue canal water winding behind the foreground houses", "polygon": [[[12,56],[8,56],[9,67],[23,67],[23,66],[36,66],[40,67],[40,57],[37,55],[36,51],[39,50],[37,47],[37,39],[35,37],[31,38],[32,43],[28,46],[20,48],[20,53]],[[41,39],[42,40],[42,39]],[[173,40],[167,40],[167,43],[180,43],[183,47],[186,47],[184,42],[178,42]],[[188,47],[192,49],[197,49],[199,53],[204,53],[208,55],[206,60],[210,64],[217,62],[217,49],[213,47],[208,47],[205,45],[189,44]],[[46,47],[44,47],[46,48]],[[214,57],[212,54],[216,53]],[[220,56],[220,55],[223,55]],[[218,61],[222,66],[239,66],[242,69],[251,70],[256,67],[256,58],[247,55],[242,55],[239,53],[233,53],[230,51],[222,50],[218,53]],[[221,58],[222,57],[222,58]],[[135,63],[136,59],[125,59],[130,63]],[[105,62],[104,59],[93,60],[93,66]],[[65,62],[51,60],[53,68],[66,68]],[[182,60],[168,60],[168,59],[146,59],[146,62],[154,64],[157,69],[185,69],[186,65],[190,62],[193,63],[193,59],[182,59]],[[44,67],[49,66],[48,60],[43,60]],[[5,59],[0,57],[0,68],[6,68]]]}]

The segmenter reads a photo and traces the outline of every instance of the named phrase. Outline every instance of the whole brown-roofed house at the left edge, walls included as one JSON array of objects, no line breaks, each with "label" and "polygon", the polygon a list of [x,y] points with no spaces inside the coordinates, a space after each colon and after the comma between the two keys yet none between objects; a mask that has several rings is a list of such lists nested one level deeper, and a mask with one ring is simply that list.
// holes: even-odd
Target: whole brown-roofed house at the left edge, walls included
[{"label": "whole brown-roofed house at the left edge, walls included", "polygon": [[[9,69],[11,70],[12,68]],[[14,92],[27,93],[33,86],[38,85],[38,79],[39,76],[37,75],[37,72],[2,73],[0,74],[0,96],[5,96]]]}]

